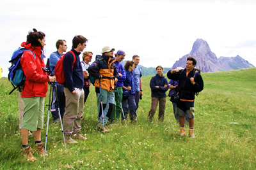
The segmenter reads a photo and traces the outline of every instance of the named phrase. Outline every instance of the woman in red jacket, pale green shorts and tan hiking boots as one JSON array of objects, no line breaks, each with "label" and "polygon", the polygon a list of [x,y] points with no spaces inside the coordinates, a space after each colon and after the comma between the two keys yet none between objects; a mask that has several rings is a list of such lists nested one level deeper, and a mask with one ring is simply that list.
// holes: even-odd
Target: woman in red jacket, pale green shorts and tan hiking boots
[{"label": "woman in red jacket, pale green shorts and tan hiking boots", "polygon": [[47,82],[56,80],[55,76],[48,76],[44,71],[45,64],[42,57],[44,55],[42,53],[45,45],[44,32],[38,32],[36,29],[29,32],[26,43],[21,44],[26,49],[20,59],[26,80],[21,93],[25,108],[20,133],[23,146],[22,155],[30,161],[36,159],[28,145],[29,131],[33,132],[38,153],[44,155],[44,146],[41,142],[41,129],[44,127],[44,99],[48,90]]}]

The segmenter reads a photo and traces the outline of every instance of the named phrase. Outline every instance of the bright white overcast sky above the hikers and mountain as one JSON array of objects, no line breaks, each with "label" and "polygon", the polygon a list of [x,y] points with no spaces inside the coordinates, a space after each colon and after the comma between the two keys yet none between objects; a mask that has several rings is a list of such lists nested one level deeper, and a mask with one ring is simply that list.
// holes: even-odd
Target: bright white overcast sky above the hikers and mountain
[{"label": "bright white overcast sky above the hikers and mountain", "polygon": [[46,34],[46,57],[58,39],[70,50],[83,35],[93,57],[109,45],[125,60],[137,54],[143,66],[172,67],[202,38],[217,57],[240,55],[256,66],[255,9],[252,0],[1,1],[0,66],[7,76],[8,60],[34,27]]}]

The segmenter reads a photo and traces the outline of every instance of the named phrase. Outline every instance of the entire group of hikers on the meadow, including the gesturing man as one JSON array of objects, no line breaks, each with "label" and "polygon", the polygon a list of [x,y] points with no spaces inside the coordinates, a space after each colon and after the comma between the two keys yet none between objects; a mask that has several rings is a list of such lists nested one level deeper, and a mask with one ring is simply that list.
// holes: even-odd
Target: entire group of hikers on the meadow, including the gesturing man
[{"label": "entire group of hikers on the meadow, including the gesturing man", "polygon": [[[28,145],[28,136],[33,132],[36,150],[40,155],[47,156],[41,141],[41,129],[44,127],[44,101],[47,93],[47,83],[51,83],[52,90],[52,121],[63,120],[63,132],[68,144],[76,144],[76,140],[87,140],[81,134],[81,118],[83,117],[84,103],[90,93],[93,83],[97,94],[98,124],[102,132],[109,132],[106,124],[115,124],[117,120],[137,122],[139,101],[143,96],[141,69],[138,67],[140,56],[133,55],[132,60],[124,60],[124,50],[104,46],[102,55],[97,55],[92,62],[92,52],[83,52],[88,39],[84,36],[75,36],[72,40],[72,49],[67,52],[67,43],[64,39],[56,42],[57,51],[49,57],[49,70],[44,63],[45,34],[41,31],[29,32],[27,41],[21,44],[26,50],[20,59],[20,65],[26,80],[17,90],[20,108],[20,132],[22,138],[22,155],[30,161],[36,160],[32,149]],[[63,54],[66,52],[65,54]],[[83,52],[83,60],[79,55]],[[63,73],[65,83],[56,81],[54,71],[58,61],[63,56]],[[92,64],[89,64],[92,62]],[[49,64],[48,64],[49,63]],[[175,117],[180,124],[180,136],[185,136],[185,117],[188,117],[189,136],[194,134],[194,99],[195,94],[204,89],[204,82],[200,73],[194,69],[196,60],[188,57],[186,68],[168,71],[167,76],[171,83],[163,76],[163,67],[157,66],[157,74],[150,80],[151,109],[148,121],[151,122],[159,103],[159,121],[164,119],[166,91],[176,89],[179,101],[176,103]],[[49,74],[51,73],[51,74]],[[58,78],[57,78],[58,79]],[[60,113],[59,113],[60,111]],[[174,110],[173,110],[174,111]],[[60,116],[59,116],[60,115]]]}]

